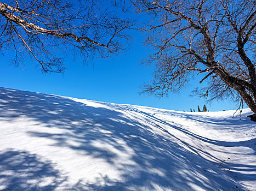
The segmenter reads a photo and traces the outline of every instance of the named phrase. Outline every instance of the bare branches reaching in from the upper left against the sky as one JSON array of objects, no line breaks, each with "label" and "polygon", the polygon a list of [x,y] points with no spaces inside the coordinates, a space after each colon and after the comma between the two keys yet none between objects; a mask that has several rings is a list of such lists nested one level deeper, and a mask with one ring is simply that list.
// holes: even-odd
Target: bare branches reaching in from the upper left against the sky
[{"label": "bare branches reaching in from the upper left against the sky", "polygon": [[[121,19],[110,4],[98,1],[10,0],[0,2],[0,51],[15,51],[19,65],[28,55],[42,71],[61,73],[64,52],[84,60],[125,50],[127,29],[134,22]],[[107,10],[107,8],[109,10]],[[124,41],[126,43],[124,43]],[[61,50],[61,51],[60,51]]]}]

